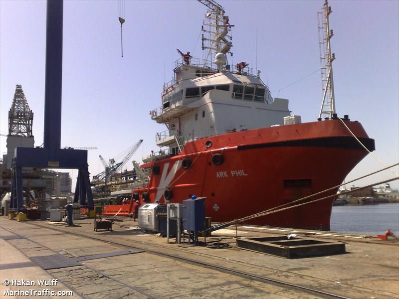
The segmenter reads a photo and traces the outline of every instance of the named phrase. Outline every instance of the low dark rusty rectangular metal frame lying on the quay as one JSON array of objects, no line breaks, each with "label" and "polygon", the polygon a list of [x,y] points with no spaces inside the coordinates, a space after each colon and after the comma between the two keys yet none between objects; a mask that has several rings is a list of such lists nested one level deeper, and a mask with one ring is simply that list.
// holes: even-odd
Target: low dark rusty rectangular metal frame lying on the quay
[{"label": "low dark rusty rectangular metal frame lying on the quay", "polygon": [[258,237],[236,239],[237,246],[284,258],[306,258],[345,253],[345,243],[291,237]]}]

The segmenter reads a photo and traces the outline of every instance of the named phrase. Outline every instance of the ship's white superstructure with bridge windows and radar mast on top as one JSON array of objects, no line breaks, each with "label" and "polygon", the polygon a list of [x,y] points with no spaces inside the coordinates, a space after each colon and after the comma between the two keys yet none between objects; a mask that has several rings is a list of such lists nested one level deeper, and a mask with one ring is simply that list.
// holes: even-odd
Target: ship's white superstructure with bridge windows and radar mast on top
[{"label": "ship's white superstructure with bridge windows and radar mast on top", "polygon": [[288,100],[271,97],[260,71],[254,76],[245,62],[228,64],[232,44],[226,38],[232,25],[221,13],[208,11],[209,29],[202,26],[209,36],[202,36],[209,44],[202,46],[209,49],[206,59],[201,62],[178,50],[182,57],[176,61],[174,79],[164,85],[162,105],[150,111],[153,120],[167,127],[157,133],[156,144],[169,147],[170,154],[198,138],[283,125],[290,115]]}]

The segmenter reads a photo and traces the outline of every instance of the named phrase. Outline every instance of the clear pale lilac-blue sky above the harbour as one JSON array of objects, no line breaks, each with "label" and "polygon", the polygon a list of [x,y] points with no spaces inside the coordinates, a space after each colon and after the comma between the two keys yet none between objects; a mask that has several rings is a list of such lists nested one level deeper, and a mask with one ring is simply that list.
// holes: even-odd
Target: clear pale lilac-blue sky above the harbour
[{"label": "clear pale lilac-blue sky above the harbour", "polygon": [[[218,3],[235,25],[231,64],[257,66],[273,97],[289,99],[289,109],[302,122],[316,121],[322,100],[316,12],[324,0]],[[394,164],[399,160],[399,1],[329,4],[337,113],[360,121],[375,139],[374,153]],[[64,1],[61,146],[97,147],[88,151],[92,175],[103,170],[99,154],[115,157],[140,139],[132,159],[141,161],[157,150],[156,132],[166,128],[152,121],[149,111],[161,106],[163,84],[173,78],[179,58],[176,48],[202,57],[205,13],[195,0]],[[15,85],[21,84],[34,113],[35,146],[43,143],[45,14],[45,1],[0,0],[0,133],[7,134],[7,113]],[[119,16],[126,19],[123,58]],[[6,138],[0,137],[0,152],[5,151]],[[127,169],[133,168],[131,160]],[[382,167],[368,155],[346,180]],[[71,174],[74,184],[77,171]],[[355,184],[391,177],[385,171]],[[391,185],[398,187],[398,181]]]}]

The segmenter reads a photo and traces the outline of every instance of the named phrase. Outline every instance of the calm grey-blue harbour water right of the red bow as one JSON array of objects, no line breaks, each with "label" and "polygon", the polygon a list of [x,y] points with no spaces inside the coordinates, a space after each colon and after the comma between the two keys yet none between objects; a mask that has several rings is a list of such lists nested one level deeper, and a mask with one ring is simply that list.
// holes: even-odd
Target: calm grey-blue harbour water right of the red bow
[{"label": "calm grey-blue harbour water right of the red bow", "polygon": [[335,232],[383,235],[391,229],[399,236],[399,203],[335,206],[330,224]]}]

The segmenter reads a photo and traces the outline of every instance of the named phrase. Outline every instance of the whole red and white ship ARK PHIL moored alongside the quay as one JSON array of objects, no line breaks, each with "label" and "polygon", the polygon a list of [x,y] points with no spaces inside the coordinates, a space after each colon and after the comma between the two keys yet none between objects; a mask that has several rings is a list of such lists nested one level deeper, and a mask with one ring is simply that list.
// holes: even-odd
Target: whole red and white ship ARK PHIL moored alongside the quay
[{"label": "whole red and white ship ARK PHIL moored alongside the quay", "polygon": [[[229,18],[215,1],[200,2],[209,8],[202,26],[208,56],[201,62],[179,51],[182,57],[174,79],[164,85],[161,107],[150,111],[152,120],[167,127],[156,135],[161,150],[144,157],[141,166],[135,163],[132,198],[144,204],[206,196],[206,215],[224,222],[341,184],[368,153],[350,131],[369,150],[375,146],[359,122],[348,116],[342,122],[335,113],[327,1],[319,26],[324,97],[319,119],[311,123],[290,116],[288,100],[272,98],[260,71],[253,74],[245,62],[228,64]],[[334,200],[250,223],[329,230]],[[103,214],[127,216],[132,204],[108,205]]]}]

